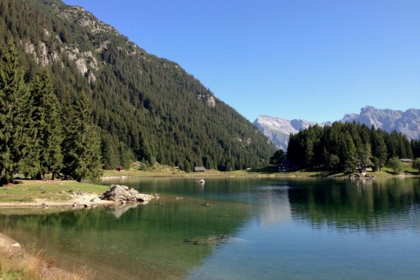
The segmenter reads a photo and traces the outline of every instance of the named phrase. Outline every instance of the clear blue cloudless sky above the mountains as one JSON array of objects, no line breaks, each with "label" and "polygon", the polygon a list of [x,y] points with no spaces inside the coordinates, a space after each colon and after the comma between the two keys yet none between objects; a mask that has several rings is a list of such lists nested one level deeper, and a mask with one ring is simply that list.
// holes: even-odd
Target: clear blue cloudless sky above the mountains
[{"label": "clear blue cloudless sky above the mountains", "polygon": [[64,0],[253,122],[420,109],[420,1]]}]

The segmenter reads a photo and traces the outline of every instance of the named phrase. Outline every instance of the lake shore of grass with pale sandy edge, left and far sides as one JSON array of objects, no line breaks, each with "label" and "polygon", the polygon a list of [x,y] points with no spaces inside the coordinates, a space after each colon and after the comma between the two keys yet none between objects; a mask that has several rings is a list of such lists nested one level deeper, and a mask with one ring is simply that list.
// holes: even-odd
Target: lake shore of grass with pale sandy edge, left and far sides
[{"label": "lake shore of grass with pale sandy edge, left and far sides", "polygon": [[[356,173],[354,173],[356,174]],[[369,172],[372,178],[390,179],[410,176],[416,174],[390,174],[390,172]],[[208,170],[206,172],[144,172],[139,170],[127,170],[117,172],[107,170],[102,176],[102,181],[115,181],[120,179],[119,184],[123,185],[125,179],[134,178],[173,178],[186,179],[192,178],[197,181],[205,178],[215,177],[274,177],[274,178],[304,178],[304,177],[325,177],[325,172],[300,170],[297,172],[278,172],[275,167],[265,169],[238,170],[232,172],[219,172]],[[328,177],[335,179],[349,178],[350,174],[338,173],[329,174]],[[360,177],[358,179],[367,179]],[[106,191],[108,186],[97,185],[94,183],[78,183],[76,181],[59,180],[20,180],[0,187],[0,208],[28,208],[28,207],[73,207],[80,209],[83,207],[94,207],[97,205],[116,204],[109,200],[100,200],[99,196]]]}]

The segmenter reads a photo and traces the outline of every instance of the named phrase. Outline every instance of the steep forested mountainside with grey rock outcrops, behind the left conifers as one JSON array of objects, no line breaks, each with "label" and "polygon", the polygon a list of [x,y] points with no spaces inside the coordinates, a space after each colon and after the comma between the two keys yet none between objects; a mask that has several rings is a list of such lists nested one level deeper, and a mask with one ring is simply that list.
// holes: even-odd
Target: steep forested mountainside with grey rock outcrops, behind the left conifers
[{"label": "steep forested mountainside with grey rock outcrops, behind the left conifers", "polygon": [[0,0],[0,36],[1,50],[9,41],[16,46],[27,85],[46,69],[59,104],[88,103],[105,169],[132,160],[185,171],[245,169],[265,166],[274,153],[266,137],[181,66],[148,54],[83,8]]}]

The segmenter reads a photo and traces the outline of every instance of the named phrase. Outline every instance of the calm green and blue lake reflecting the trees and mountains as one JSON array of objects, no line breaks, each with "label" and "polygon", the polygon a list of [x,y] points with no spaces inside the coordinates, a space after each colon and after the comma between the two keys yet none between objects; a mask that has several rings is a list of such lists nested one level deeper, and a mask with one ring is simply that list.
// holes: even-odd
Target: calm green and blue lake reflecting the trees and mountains
[{"label": "calm green and blue lake reflecting the trees and mountains", "polygon": [[161,198],[1,209],[0,231],[96,279],[419,279],[419,178],[197,180],[106,181]]}]

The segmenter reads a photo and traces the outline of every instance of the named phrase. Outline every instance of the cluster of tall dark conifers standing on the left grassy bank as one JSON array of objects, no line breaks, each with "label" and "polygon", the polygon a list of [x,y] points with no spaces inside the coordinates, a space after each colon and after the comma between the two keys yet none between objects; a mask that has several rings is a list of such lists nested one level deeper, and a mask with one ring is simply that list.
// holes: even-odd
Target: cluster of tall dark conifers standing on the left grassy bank
[{"label": "cluster of tall dark conifers standing on the left grassy bank", "polygon": [[102,174],[100,138],[86,95],[66,95],[61,106],[48,70],[41,69],[25,83],[18,58],[12,42],[1,51],[1,183],[15,174],[96,179]]}]

